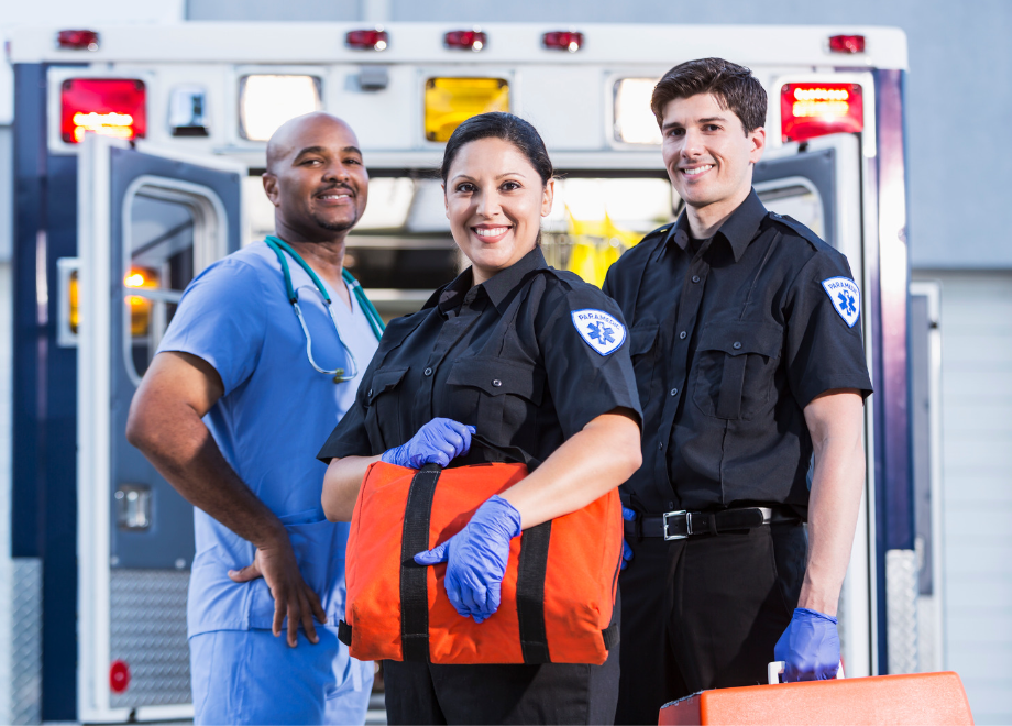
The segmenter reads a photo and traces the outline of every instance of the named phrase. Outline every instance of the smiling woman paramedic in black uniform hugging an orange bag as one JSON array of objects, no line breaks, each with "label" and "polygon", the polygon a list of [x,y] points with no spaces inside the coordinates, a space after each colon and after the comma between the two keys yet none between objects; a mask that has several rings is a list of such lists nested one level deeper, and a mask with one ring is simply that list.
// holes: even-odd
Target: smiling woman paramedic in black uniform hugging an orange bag
[{"label": "smiling woman paramedic in black uniform hugging an orange bag", "polygon": [[[583,508],[639,468],[640,409],[618,308],[549,267],[538,246],[554,187],[534,127],[508,113],[464,121],[441,175],[450,229],[471,266],[387,327],[355,405],[320,451],[330,461],[323,510],[350,520],[365,470],[381,459],[414,469],[486,461],[471,447],[474,431],[543,461],[448,542],[416,556],[448,562],[450,602],[482,623],[498,607],[513,537]],[[392,724],[605,724],[618,695],[617,648],[603,666],[383,668]]]}]

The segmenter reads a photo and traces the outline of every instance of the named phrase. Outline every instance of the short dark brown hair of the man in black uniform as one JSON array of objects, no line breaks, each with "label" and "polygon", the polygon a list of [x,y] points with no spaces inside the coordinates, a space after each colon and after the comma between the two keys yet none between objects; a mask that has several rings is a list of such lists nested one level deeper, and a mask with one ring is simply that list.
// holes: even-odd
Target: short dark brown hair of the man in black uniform
[{"label": "short dark brown hair of the man in black uniform", "polygon": [[664,123],[664,108],[676,98],[713,94],[722,108],[730,109],[745,132],[766,125],[766,89],[752,72],[723,58],[686,61],[664,74],[653,88],[650,108],[658,125]]}]

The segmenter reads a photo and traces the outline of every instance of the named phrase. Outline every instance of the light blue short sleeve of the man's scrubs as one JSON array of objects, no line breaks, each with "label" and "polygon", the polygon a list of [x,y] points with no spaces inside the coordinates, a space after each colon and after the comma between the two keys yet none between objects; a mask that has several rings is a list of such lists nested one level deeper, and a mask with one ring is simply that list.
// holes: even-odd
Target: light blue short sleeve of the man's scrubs
[{"label": "light blue short sleeve of the man's scrubs", "polygon": [[221,376],[228,395],[256,369],[266,334],[267,311],[256,271],[227,257],[186,288],[158,352],[189,353]]}]

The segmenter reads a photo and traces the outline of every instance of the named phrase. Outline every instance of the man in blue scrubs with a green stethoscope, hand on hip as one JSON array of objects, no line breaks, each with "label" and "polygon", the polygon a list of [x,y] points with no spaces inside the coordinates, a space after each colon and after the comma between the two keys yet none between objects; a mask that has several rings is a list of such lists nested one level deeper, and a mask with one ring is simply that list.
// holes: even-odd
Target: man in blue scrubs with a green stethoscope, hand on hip
[{"label": "man in blue scrubs with a green stethoscope, hand on hip", "polygon": [[373,664],[337,637],[349,526],[323,517],[316,459],[376,350],[378,329],[342,279],[369,193],[355,134],[326,113],[287,122],[268,143],[264,189],[283,242],[194,279],[127,436],[196,507],[196,723],[361,724]]}]

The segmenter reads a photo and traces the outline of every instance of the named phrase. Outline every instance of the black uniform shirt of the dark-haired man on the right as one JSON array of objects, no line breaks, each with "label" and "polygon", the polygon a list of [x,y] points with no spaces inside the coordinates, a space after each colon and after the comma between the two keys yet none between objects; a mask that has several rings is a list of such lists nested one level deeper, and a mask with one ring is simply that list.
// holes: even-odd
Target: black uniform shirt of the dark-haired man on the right
[{"label": "black uniform shirt of the dark-haired man on the right", "polygon": [[803,513],[812,439],[803,409],[871,380],[846,257],[749,197],[689,248],[685,215],[608,271],[631,328],[644,465],[623,486],[641,513],[789,504]]}]

